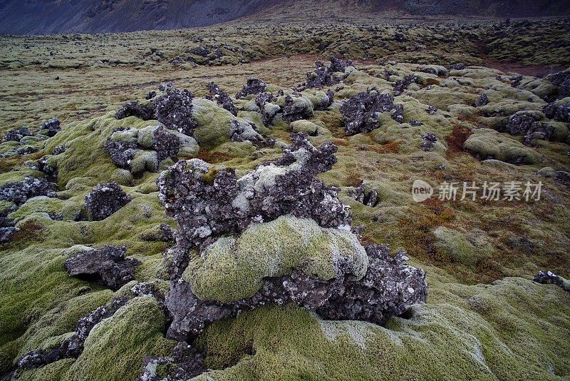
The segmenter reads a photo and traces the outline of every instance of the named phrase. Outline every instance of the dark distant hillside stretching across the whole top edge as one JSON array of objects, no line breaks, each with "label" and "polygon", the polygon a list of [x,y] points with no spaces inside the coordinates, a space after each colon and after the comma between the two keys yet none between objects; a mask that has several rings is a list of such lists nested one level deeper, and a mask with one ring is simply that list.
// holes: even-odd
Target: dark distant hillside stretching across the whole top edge
[{"label": "dark distant hillside stretching across the whole top edge", "polygon": [[[0,0],[0,34],[103,33],[209,26],[259,14],[310,16],[391,11],[405,16],[560,16],[570,0]],[[319,14],[315,14],[315,10]],[[250,19],[251,20],[251,19]]]}]

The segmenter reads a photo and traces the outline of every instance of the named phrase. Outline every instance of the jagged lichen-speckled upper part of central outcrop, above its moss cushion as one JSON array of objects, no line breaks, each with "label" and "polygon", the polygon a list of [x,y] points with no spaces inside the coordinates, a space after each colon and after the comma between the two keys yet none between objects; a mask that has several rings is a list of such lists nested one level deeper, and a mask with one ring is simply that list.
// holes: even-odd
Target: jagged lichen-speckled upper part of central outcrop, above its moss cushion
[{"label": "jagged lichen-speckled upper part of central outcrop, above its moss cushion", "polygon": [[282,158],[239,179],[233,169],[217,169],[199,159],[180,161],[163,172],[157,181],[160,200],[180,225],[177,245],[188,250],[210,237],[239,233],[251,223],[286,214],[325,227],[348,225],[348,207],[338,200],[337,190],[316,178],[336,163],[336,146],[315,148],[302,133],[293,138]]}]

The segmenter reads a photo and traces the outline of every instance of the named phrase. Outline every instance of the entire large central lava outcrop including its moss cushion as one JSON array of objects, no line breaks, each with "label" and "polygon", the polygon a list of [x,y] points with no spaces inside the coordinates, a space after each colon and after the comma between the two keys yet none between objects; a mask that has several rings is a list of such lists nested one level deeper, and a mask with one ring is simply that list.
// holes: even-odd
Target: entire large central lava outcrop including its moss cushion
[{"label": "entire large central lava outcrop including its moss cushion", "polygon": [[405,265],[404,252],[363,248],[348,207],[316,178],[336,162],[336,147],[293,138],[279,160],[239,179],[197,159],[161,174],[160,200],[180,226],[169,337],[188,342],[211,322],[267,304],[382,324],[425,301],[423,270]]}]

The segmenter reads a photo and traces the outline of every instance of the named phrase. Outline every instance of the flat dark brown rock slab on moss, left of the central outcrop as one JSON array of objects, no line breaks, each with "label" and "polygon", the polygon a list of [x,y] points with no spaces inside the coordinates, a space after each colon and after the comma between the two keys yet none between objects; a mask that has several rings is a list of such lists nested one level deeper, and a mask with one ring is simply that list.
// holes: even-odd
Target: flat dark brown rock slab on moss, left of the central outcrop
[{"label": "flat dark brown rock slab on moss, left of the central outcrop", "polygon": [[97,250],[82,251],[66,260],[65,266],[69,275],[95,280],[112,290],[135,279],[135,266],[138,260],[125,258],[127,248],[105,246]]}]

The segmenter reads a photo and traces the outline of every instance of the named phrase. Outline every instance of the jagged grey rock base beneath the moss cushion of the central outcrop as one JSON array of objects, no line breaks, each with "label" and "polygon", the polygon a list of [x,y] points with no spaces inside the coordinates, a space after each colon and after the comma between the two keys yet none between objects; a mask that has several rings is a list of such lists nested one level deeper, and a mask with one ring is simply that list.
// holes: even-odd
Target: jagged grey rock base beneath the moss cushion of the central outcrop
[{"label": "jagged grey rock base beneath the moss cushion of the central outcrop", "polygon": [[388,317],[403,314],[410,305],[425,302],[425,272],[405,265],[405,252],[392,258],[386,245],[368,245],[366,252],[370,265],[361,280],[352,280],[350,272],[321,280],[294,270],[290,275],[267,278],[251,298],[233,303],[199,300],[188,283],[172,281],[166,298],[172,315],[167,335],[179,341],[191,340],[211,322],[268,304],[294,303],[328,320],[383,324]]}]

